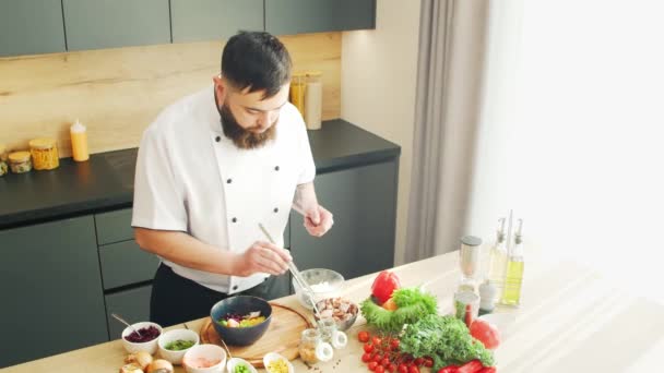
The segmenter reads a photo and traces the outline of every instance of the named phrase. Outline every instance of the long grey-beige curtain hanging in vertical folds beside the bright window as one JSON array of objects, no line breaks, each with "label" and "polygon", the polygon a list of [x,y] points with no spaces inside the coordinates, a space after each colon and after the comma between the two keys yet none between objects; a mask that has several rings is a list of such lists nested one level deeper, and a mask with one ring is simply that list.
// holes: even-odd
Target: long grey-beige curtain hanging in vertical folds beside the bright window
[{"label": "long grey-beige curtain hanging in vertical folds beside the bright window", "polygon": [[488,1],[423,0],[406,262],[459,248],[471,191]]}]

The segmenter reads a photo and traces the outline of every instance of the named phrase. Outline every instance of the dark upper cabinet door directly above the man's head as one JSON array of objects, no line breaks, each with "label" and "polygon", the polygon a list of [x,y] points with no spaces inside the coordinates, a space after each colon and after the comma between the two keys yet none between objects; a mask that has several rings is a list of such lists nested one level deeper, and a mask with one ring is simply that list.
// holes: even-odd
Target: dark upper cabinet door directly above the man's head
[{"label": "dark upper cabinet door directly above the man's head", "polygon": [[173,41],[227,39],[263,31],[263,0],[170,0]]}]

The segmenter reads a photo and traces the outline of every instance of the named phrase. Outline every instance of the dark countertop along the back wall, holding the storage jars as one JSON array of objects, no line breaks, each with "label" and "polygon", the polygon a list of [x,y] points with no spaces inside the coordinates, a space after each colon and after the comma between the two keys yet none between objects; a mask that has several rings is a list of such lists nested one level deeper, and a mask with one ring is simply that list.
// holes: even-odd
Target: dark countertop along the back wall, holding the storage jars
[{"label": "dark countertop along the back wall, holding the storage jars", "polygon": [[[318,173],[386,161],[399,145],[344,120],[309,131]],[[50,171],[0,177],[0,229],[129,207],[138,148],[93,154],[88,161],[60,159]]]}]

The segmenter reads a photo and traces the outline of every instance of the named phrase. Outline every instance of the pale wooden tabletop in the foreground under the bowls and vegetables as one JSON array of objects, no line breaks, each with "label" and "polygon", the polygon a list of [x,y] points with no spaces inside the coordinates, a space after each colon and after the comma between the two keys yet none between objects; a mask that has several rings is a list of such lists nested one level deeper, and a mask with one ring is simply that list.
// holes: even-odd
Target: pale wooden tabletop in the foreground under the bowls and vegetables
[{"label": "pale wooden tabletop in the foreground under the bowls and vegetables", "polygon": [[[526,255],[529,253],[526,252]],[[394,268],[404,287],[425,285],[438,297],[441,313],[451,311],[459,279],[458,252]],[[375,275],[346,281],[344,294],[359,302],[368,297]],[[496,351],[499,372],[657,372],[664,356],[664,305],[612,286],[597,272],[569,260],[526,256],[523,304],[499,309],[517,315],[512,333]],[[277,302],[303,312],[294,297]],[[203,320],[187,323],[200,329]],[[317,364],[321,372],[367,372],[357,330],[334,359]],[[175,327],[182,327],[176,325]],[[7,373],[118,372],[126,356],[120,340],[110,341],[0,370]],[[294,361],[296,372],[309,369]],[[313,371],[313,370],[311,370]],[[176,372],[185,372],[177,368]]]}]

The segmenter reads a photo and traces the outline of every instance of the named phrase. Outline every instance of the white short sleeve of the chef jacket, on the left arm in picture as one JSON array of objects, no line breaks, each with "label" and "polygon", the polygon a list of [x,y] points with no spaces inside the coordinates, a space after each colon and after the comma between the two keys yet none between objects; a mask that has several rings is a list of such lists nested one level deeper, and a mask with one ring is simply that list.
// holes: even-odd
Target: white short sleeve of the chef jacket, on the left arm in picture
[{"label": "white short sleeve of the chef jacket, on the left arm in picture", "polygon": [[187,231],[183,191],[178,186],[165,136],[151,125],[137,160],[132,227]]}]

